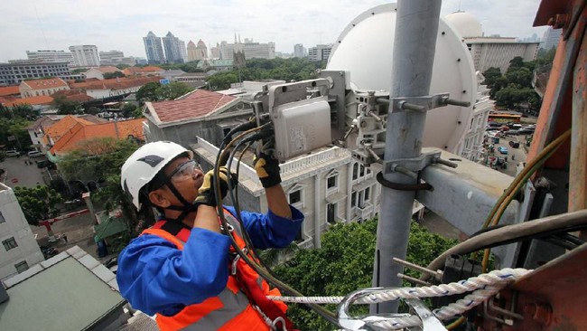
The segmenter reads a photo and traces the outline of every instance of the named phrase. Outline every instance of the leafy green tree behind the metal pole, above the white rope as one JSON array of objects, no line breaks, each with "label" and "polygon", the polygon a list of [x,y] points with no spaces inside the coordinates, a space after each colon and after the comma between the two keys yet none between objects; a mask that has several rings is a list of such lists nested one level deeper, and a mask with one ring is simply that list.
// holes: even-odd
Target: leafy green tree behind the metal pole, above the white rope
[{"label": "leafy green tree behind the metal pole, above the white rope", "polygon": [[[306,296],[345,296],[370,288],[376,233],[377,220],[338,223],[322,235],[321,249],[297,251],[292,260],[275,268],[275,274]],[[425,266],[456,243],[412,222],[406,260]],[[406,273],[418,277],[414,272]],[[357,307],[357,312],[367,314],[368,307]],[[290,305],[287,315],[302,330],[332,329],[301,305]]]}]

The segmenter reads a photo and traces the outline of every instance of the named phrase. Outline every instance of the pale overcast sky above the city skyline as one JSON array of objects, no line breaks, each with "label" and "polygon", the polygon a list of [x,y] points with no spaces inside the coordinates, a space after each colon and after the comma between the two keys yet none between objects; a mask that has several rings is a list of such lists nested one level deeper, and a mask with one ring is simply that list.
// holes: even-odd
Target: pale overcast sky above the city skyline
[{"label": "pale overcast sky above the city skyline", "polygon": [[[275,42],[277,52],[333,43],[357,15],[388,1],[349,0],[4,0],[0,10],[0,61],[26,59],[25,51],[93,44],[145,57],[143,37],[171,31],[188,43],[232,43],[234,34]],[[532,24],[540,0],[444,0],[442,15],[461,10],[480,20],[486,35],[542,37]]]}]

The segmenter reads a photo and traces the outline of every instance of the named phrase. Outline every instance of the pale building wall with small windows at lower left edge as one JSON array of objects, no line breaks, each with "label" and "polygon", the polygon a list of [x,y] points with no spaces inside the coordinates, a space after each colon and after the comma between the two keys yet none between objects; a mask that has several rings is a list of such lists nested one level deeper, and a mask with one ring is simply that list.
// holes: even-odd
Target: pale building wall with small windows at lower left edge
[{"label": "pale building wall with small windows at lower left edge", "polygon": [[45,260],[13,190],[0,183],[0,280]]}]

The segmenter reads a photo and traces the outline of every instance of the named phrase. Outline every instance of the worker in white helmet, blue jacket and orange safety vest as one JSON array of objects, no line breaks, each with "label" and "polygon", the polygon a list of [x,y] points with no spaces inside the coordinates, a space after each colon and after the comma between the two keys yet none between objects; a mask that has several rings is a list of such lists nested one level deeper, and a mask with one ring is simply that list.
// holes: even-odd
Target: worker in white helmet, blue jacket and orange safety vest
[{"label": "worker in white helmet, blue jacket and orange safety vest", "polygon": [[[120,253],[116,281],[136,309],[156,315],[163,331],[290,329],[280,293],[259,279],[221,231],[212,180],[191,151],[172,142],[148,143],[129,156],[121,184],[137,209],[153,206],[161,220]],[[241,213],[254,246],[283,248],[293,241],[303,213],[287,203],[275,158],[259,153],[256,173],[265,188],[267,213]],[[228,170],[219,169],[220,196]],[[228,231],[242,245],[234,207],[225,207]],[[232,225],[232,226],[231,226]],[[242,248],[242,247],[241,247]],[[273,326],[271,326],[273,325]]]}]

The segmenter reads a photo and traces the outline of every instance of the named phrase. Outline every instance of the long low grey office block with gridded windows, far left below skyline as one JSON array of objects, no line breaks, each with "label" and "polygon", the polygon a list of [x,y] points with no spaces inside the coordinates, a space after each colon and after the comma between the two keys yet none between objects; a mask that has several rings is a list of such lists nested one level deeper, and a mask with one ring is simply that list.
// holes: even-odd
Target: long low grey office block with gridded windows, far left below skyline
[{"label": "long low grey office block with gridded windows, far left below skyline", "polygon": [[23,80],[42,77],[59,77],[63,80],[75,80],[80,75],[72,75],[69,62],[12,61],[0,63],[0,85],[20,84]]}]

